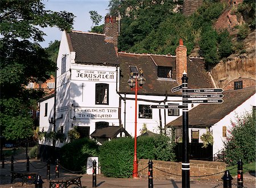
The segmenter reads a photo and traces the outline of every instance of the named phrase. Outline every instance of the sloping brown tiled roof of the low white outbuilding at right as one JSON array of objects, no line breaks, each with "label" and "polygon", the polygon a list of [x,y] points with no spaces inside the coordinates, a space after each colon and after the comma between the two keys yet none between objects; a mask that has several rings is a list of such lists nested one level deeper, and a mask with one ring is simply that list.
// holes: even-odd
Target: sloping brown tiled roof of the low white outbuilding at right
[{"label": "sloping brown tiled roof of the low white outbuilding at right", "polygon": [[[199,105],[188,112],[189,126],[213,126],[255,94],[255,87],[224,91],[221,104]],[[182,116],[167,124],[167,127],[182,126]]]}]

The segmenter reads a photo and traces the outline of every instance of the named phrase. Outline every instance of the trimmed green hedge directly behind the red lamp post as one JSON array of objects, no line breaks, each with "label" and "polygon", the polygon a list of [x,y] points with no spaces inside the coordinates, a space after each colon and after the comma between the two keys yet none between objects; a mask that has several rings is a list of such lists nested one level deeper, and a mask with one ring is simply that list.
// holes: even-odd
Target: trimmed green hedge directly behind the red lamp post
[{"label": "trimmed green hedge directly behind the red lamp post", "polygon": [[[137,158],[174,161],[174,144],[165,135],[141,136],[137,139]],[[119,138],[100,148],[102,173],[107,177],[128,178],[133,172],[134,139]]]}]

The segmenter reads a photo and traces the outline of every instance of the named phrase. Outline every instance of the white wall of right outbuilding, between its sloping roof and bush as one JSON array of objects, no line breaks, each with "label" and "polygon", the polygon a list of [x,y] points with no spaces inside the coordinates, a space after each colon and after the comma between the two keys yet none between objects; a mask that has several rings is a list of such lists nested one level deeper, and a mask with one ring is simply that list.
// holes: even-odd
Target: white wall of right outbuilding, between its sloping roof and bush
[{"label": "white wall of right outbuilding, between its sloping roof and bush", "polygon": [[[234,111],[230,112],[225,118],[221,119],[218,123],[212,126],[211,130],[213,133],[213,154],[224,148],[225,137],[222,137],[222,127],[226,126],[227,130],[232,127],[232,123],[236,120],[236,116],[241,116],[245,112],[250,112],[252,107],[256,106],[256,95],[251,96],[247,101],[238,106]],[[228,134],[228,132],[227,132]]]}]

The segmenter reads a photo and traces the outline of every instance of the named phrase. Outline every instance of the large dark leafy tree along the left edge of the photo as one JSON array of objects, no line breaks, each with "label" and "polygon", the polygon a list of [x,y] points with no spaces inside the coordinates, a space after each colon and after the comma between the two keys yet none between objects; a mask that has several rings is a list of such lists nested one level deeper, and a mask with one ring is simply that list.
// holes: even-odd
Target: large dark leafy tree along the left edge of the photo
[{"label": "large dark leafy tree along the left edge of the photo", "polygon": [[41,0],[1,1],[0,6],[0,85],[1,136],[23,139],[32,135],[28,114],[43,90],[28,90],[29,82],[46,81],[55,71],[55,62],[38,44],[44,32],[39,28],[58,27],[71,31],[72,13],[44,10]]}]

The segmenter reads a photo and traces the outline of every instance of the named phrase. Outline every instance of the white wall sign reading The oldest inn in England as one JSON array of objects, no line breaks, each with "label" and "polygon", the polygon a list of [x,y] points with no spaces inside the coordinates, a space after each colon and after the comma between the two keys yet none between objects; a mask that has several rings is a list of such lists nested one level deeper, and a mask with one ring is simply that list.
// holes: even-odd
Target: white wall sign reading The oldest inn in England
[{"label": "white wall sign reading The oldest inn in England", "polygon": [[118,108],[77,107],[72,110],[71,118],[76,119],[118,119]]}]

